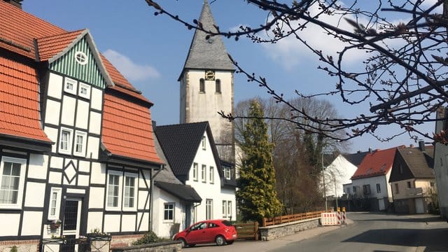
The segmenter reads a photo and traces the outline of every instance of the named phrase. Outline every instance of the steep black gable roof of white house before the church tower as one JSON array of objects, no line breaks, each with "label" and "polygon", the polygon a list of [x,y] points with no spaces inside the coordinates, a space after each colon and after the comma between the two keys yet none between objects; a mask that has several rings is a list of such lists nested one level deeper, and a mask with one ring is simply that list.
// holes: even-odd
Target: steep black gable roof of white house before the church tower
[{"label": "steep black gable roof of white house before the church tower", "polygon": [[219,176],[223,177],[223,171],[219,162],[218,151],[216,151],[213,134],[211,134],[209,122],[183,123],[179,125],[165,125],[155,127],[157,137],[162,151],[165,154],[174,175],[185,182],[188,180],[190,167],[202,141],[204,132],[207,131],[211,151],[216,160]]}]

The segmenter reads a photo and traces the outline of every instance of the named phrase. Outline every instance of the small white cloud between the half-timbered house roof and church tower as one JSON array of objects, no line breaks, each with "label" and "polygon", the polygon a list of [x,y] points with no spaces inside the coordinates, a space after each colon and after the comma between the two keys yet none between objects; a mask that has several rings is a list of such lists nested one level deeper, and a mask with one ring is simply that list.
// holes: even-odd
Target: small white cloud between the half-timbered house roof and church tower
[{"label": "small white cloud between the half-timbered house roof and church tower", "polygon": [[108,49],[103,52],[103,55],[130,81],[160,77],[159,71],[153,66],[139,65],[133,62],[129,57],[122,55],[115,50]]}]

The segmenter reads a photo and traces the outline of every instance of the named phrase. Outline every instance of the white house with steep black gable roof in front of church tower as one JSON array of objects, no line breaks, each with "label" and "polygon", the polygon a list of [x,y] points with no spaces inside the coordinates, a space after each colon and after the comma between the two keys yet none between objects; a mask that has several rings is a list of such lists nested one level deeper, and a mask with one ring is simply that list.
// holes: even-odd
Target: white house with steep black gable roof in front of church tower
[{"label": "white house with steep black gable roof in front of church tower", "polygon": [[209,123],[158,126],[155,134],[176,178],[202,199],[191,204],[185,226],[216,218],[235,221],[235,166],[219,160]]}]

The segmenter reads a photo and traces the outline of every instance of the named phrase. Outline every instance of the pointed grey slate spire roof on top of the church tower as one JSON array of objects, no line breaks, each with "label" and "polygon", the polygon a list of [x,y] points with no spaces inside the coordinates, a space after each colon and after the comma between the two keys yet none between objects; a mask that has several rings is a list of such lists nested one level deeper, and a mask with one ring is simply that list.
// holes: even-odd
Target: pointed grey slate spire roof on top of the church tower
[{"label": "pointed grey slate spire roof on top of the church tower", "polygon": [[[207,1],[204,1],[204,6],[202,6],[199,22],[202,23],[202,27],[207,31],[218,31]],[[221,36],[212,36],[209,40],[205,38],[206,36],[207,34],[204,31],[198,29],[195,30],[195,35],[193,36],[193,41],[191,42],[190,50],[188,51],[188,56],[185,65],[183,66],[182,73],[179,76],[179,80],[185,69],[235,71],[235,66],[228,57]]]}]

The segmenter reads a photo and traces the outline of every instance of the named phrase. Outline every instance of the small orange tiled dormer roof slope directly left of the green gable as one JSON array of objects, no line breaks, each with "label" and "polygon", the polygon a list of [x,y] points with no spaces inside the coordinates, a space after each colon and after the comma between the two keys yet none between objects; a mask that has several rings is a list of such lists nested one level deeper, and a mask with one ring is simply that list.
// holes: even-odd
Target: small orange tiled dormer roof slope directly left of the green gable
[{"label": "small orange tiled dormer roof slope directly left of the green gable", "polygon": [[39,57],[41,61],[50,59],[51,57],[62,52],[71,42],[75,40],[85,30],[64,32],[52,36],[37,39]]}]

